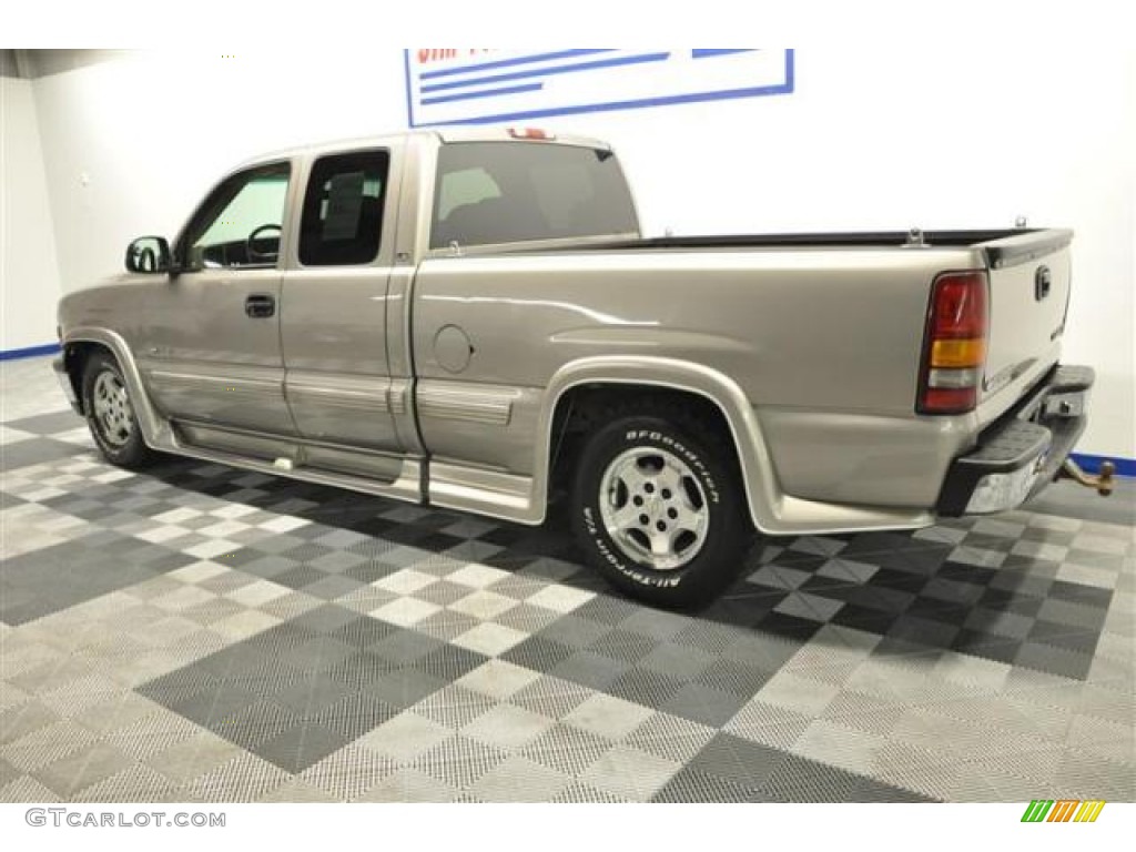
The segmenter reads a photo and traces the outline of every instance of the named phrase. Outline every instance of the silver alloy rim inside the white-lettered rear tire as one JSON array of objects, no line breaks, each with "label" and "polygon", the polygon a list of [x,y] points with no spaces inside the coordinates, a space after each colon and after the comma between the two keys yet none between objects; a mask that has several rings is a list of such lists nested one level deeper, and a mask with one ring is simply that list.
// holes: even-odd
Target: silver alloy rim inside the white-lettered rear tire
[{"label": "silver alloy rim inside the white-lettered rear tire", "polygon": [[694,471],[653,446],[618,456],[600,479],[600,515],[625,556],[654,570],[690,562],[707,540],[710,510]]}]

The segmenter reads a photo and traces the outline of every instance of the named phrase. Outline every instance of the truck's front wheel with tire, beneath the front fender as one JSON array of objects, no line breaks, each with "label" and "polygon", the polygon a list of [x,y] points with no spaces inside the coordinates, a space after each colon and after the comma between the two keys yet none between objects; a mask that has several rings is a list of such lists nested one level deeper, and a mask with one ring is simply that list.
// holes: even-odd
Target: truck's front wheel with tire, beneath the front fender
[{"label": "truck's front wheel with tire, beneath the front fender", "polygon": [[83,367],[83,411],[107,461],[137,469],[154,460],[153,450],[142,437],[123,371],[110,354],[95,353]]}]

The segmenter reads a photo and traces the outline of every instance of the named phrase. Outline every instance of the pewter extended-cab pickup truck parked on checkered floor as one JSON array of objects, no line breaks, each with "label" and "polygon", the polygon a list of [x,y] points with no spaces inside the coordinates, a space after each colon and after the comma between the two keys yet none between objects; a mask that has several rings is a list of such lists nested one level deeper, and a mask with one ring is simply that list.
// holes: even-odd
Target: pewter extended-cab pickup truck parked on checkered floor
[{"label": "pewter extended-cab pickup truck parked on checkered floor", "polygon": [[[708,203],[710,201],[708,200]],[[111,462],[154,451],[544,521],[712,595],[754,529],[1018,506],[1085,426],[1059,229],[644,239],[607,144],[416,131],[273,153],[59,307]]]}]

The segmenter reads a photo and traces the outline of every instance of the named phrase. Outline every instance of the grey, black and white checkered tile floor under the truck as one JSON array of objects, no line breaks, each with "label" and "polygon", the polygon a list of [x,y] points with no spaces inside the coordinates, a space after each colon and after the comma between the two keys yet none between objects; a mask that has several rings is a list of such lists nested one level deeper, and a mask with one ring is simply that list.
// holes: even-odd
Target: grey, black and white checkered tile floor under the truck
[{"label": "grey, black and white checkered tile floor under the truck", "polygon": [[680,615],[562,513],[116,469],[2,369],[2,801],[1136,799],[1129,483],[758,541]]}]

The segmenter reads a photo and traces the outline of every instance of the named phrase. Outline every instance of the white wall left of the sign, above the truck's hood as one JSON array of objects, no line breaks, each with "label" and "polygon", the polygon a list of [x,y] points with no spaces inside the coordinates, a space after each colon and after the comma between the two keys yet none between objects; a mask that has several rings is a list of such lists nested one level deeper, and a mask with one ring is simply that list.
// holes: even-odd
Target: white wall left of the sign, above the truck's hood
[{"label": "white wall left of the sign, above the truck's hood", "polygon": [[249,157],[400,130],[401,74],[401,53],[162,52],[36,80],[64,289],[119,270],[135,236],[173,237]]}]

